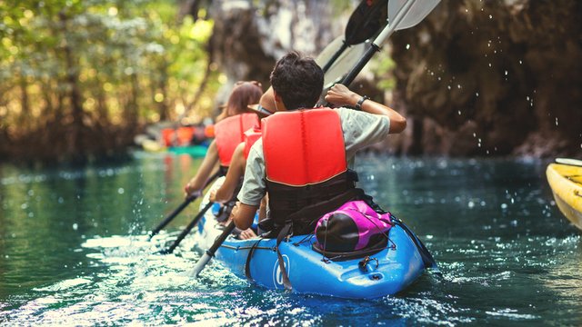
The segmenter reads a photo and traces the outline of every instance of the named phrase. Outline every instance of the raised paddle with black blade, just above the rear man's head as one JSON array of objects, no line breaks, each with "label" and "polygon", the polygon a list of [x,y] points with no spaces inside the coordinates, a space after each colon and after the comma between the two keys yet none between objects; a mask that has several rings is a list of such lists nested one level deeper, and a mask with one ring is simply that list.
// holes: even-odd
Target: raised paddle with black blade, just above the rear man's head
[{"label": "raised paddle with black blade, just above the rear man's head", "polygon": [[[386,22],[387,3],[387,0],[362,0],[362,2],[357,5],[356,10],[352,15],[350,15],[349,20],[347,21],[344,40],[341,42],[341,45],[336,52],[329,56],[329,58],[326,58],[326,64],[322,66],[324,74],[329,71],[332,65],[336,63],[336,60],[348,47],[351,45],[362,44],[370,37],[376,35],[380,27],[382,27]],[[337,39],[332,44],[328,45],[329,49],[337,47],[339,42],[336,41]],[[326,54],[326,50],[327,52],[330,52],[328,47],[326,47],[320,55]],[[364,46],[361,46],[361,49],[363,51]],[[324,60],[317,61],[317,64],[323,62]]]}]

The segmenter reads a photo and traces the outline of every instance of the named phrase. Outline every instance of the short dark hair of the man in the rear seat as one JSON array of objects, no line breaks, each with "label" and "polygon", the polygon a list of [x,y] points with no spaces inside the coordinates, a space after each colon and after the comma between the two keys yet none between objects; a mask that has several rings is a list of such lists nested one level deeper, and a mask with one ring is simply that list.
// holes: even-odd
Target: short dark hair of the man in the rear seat
[{"label": "short dark hair of the man in the rear seat", "polygon": [[270,82],[287,110],[313,108],[324,88],[324,72],[313,58],[293,51],[276,62]]}]

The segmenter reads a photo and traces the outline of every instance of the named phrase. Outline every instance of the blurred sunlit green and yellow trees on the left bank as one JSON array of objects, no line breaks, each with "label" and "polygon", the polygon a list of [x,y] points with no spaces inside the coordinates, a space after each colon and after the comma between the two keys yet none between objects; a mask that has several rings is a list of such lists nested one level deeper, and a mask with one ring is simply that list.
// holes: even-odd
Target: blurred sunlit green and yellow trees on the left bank
[{"label": "blurred sunlit green and yellow trees on the left bank", "polygon": [[[0,0],[0,133],[23,138],[47,121],[135,129],[188,114],[213,22],[177,22],[177,11],[167,0]],[[198,116],[211,110],[217,77]]]}]

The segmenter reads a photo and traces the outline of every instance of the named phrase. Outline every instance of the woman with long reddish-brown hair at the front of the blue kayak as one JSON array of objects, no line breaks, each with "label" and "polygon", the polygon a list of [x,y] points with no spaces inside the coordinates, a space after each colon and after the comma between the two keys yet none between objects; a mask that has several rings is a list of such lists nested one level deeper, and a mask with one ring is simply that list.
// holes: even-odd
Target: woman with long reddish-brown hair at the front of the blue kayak
[{"label": "woman with long reddish-brown hair at the front of the blue kayak", "polygon": [[222,174],[226,174],[236,145],[243,142],[245,131],[258,123],[256,114],[250,113],[247,106],[256,104],[261,95],[263,90],[257,82],[239,82],[235,85],[222,113],[226,117],[215,124],[215,139],[208,146],[196,175],[184,187],[186,197],[202,191],[216,163],[219,163]]}]

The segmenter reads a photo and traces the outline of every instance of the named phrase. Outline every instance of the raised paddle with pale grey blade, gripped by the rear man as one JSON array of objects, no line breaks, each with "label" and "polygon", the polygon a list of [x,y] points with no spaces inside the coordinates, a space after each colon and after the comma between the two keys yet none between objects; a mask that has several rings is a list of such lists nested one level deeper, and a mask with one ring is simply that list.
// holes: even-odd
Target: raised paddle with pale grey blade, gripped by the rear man
[{"label": "raised paddle with pale grey blade, gripped by the rear man", "polygon": [[340,82],[349,86],[367,62],[372,59],[380,46],[395,31],[406,29],[420,23],[440,2],[440,0],[391,0],[388,3],[388,21],[390,22],[366,50],[366,54]]}]

